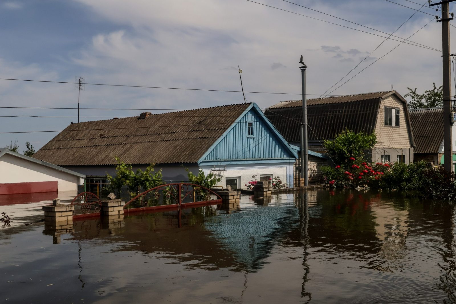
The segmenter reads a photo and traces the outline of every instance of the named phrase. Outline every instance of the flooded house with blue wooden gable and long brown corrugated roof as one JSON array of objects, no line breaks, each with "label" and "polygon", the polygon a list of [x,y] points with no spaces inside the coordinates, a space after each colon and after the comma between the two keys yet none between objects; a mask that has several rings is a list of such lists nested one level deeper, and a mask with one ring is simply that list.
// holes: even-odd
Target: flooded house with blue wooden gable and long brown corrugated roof
[{"label": "flooded house with blue wooden gable and long brown corrugated roof", "polygon": [[252,175],[293,184],[295,150],[255,103],[71,124],[33,157],[86,175],[115,174],[115,157],[155,163],[164,180],[187,180],[183,165],[240,188]]}]

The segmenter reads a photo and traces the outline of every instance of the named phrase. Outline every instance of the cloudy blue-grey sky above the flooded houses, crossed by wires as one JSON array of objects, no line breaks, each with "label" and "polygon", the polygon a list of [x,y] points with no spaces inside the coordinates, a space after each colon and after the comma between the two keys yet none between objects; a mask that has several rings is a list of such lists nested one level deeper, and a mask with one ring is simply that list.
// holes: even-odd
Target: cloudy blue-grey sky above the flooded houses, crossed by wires
[{"label": "cloudy blue-grey sky above the flooded houses, crossed by wires", "polygon": [[[264,5],[248,0],[0,0],[0,78],[75,82],[84,77],[86,83],[239,91],[240,66],[245,91],[292,93],[245,94],[247,102],[264,109],[301,99],[301,54],[308,66],[308,98],[319,97],[374,49],[333,89],[402,41],[379,46],[385,38],[369,33],[388,36],[379,31],[390,34],[415,13],[394,35],[407,38],[425,26],[409,40],[436,50],[403,43],[332,94],[388,91],[393,85],[404,95],[408,87],[422,93],[432,82],[442,83],[441,23],[433,20],[441,12],[413,3],[427,1],[392,0],[415,10],[387,0],[289,1],[307,8],[284,0],[255,1]],[[451,22],[456,26],[456,20]],[[450,29],[456,42],[456,28]],[[244,103],[242,93],[90,84],[78,92],[73,83],[0,80],[0,107],[77,108],[78,93],[81,108],[137,109],[82,109],[81,122],[137,116],[144,112],[140,109],[163,113]],[[0,116],[16,115],[58,116],[0,117],[0,147],[17,141],[20,152],[26,141],[37,150],[58,132],[5,132],[60,131],[78,121],[77,109],[0,108]]]}]

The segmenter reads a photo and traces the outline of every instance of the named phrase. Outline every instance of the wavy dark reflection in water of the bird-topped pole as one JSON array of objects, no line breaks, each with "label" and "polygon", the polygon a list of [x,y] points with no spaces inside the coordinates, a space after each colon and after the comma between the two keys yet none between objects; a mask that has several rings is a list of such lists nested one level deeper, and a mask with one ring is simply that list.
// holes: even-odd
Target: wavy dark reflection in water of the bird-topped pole
[{"label": "wavy dark reflection in water of the bird-topped pole", "polygon": [[309,227],[309,202],[307,197],[307,191],[301,191],[301,200],[299,204],[299,226],[301,229],[301,240],[302,246],[304,247],[304,255],[302,259],[302,266],[304,266],[304,276],[302,277],[301,287],[301,298],[309,297],[309,301],[312,299],[312,294],[306,291],[306,282],[308,281],[308,275],[310,272],[309,264],[307,264],[307,247],[309,247],[309,235],[307,228]]}]

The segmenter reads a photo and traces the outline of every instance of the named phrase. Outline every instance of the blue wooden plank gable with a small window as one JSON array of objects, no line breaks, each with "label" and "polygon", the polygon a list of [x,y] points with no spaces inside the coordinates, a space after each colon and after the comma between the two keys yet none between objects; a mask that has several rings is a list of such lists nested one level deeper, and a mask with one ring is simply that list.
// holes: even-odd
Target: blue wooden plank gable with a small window
[{"label": "blue wooden plank gable with a small window", "polygon": [[297,157],[260,108],[252,103],[207,150],[198,164],[223,160],[294,161]]}]

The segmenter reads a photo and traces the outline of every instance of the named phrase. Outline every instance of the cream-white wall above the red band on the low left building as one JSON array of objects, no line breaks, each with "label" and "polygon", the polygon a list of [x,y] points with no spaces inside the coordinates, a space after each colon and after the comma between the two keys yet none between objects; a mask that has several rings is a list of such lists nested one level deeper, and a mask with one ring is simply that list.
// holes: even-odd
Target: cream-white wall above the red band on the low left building
[{"label": "cream-white wall above the red band on the low left building", "polygon": [[0,158],[0,184],[57,180],[58,191],[76,191],[80,177],[13,155]]}]

